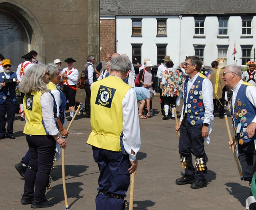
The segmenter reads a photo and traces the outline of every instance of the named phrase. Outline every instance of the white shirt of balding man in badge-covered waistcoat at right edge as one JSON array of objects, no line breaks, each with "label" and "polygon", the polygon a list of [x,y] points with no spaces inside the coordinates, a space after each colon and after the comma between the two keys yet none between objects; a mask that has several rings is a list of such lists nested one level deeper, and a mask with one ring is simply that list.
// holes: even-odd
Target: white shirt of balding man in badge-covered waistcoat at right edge
[{"label": "white shirt of balding man in badge-covered waistcoat at right edge", "polygon": [[[236,101],[236,96],[237,96],[237,93],[238,93],[238,90],[239,88],[241,87],[242,85],[242,82],[243,80],[240,80],[240,82],[238,82],[238,84],[236,84],[236,86],[234,87],[233,89],[233,95],[232,95],[232,107],[234,107],[234,104],[235,104],[235,101]],[[256,93],[256,87],[253,86],[253,85],[248,85],[246,87],[246,90],[245,90],[245,94],[246,94],[246,97],[248,98],[248,100],[252,103],[252,105],[254,107],[256,107],[256,97],[255,97],[255,93]],[[234,117],[234,116],[233,116]],[[255,122],[256,123],[256,116],[254,116],[252,122]]]}]

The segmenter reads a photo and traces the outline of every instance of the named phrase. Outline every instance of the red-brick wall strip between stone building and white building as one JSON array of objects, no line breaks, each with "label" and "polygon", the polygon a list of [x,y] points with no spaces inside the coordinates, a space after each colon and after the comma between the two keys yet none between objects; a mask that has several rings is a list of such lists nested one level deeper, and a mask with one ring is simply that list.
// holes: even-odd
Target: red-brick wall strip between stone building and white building
[{"label": "red-brick wall strip between stone building and white building", "polygon": [[[115,20],[114,19],[101,19],[100,20],[100,61],[105,60],[106,53],[115,52],[115,44],[116,44],[116,37],[115,37]],[[100,61],[96,61],[96,65]]]}]

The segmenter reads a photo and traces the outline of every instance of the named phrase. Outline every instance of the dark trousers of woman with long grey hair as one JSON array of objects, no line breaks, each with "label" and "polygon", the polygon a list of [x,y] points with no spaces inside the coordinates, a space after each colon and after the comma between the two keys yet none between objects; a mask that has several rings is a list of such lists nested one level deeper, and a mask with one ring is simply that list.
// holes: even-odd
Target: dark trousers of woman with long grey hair
[{"label": "dark trousers of woman with long grey hair", "polygon": [[43,201],[49,183],[56,142],[50,135],[26,135],[26,140],[29,147],[29,163],[25,174],[24,195]]}]

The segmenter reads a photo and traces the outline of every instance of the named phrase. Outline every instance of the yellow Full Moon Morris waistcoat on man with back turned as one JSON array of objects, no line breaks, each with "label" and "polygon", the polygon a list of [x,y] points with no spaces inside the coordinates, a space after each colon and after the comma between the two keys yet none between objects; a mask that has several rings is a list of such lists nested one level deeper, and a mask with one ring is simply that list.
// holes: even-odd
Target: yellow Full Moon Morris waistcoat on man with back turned
[{"label": "yellow Full Moon Morris waistcoat on man with back turned", "polygon": [[122,100],[132,88],[115,76],[108,76],[92,84],[91,126],[87,144],[121,152],[120,136],[123,129]]}]

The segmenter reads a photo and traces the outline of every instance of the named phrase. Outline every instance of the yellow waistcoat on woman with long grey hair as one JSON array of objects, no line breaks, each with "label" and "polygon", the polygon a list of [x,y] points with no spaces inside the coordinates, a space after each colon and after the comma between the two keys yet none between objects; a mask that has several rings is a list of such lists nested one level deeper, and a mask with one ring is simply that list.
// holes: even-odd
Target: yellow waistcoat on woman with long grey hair
[{"label": "yellow waistcoat on woman with long grey hair", "polygon": [[24,112],[27,122],[24,127],[24,134],[28,135],[46,135],[46,129],[43,123],[42,106],[40,98],[42,93],[32,92],[31,95],[25,95],[23,98]]}]

